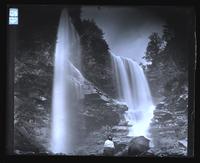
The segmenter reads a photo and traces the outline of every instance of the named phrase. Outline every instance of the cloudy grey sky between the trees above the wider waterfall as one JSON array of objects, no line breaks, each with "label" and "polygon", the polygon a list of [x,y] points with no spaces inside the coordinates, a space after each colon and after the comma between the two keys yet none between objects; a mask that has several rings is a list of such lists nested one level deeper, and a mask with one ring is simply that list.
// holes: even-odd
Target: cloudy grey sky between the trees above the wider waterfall
[{"label": "cloudy grey sky between the trees above the wider waterfall", "polygon": [[103,30],[111,52],[144,62],[148,37],[152,32],[162,34],[165,22],[149,7],[83,6],[82,19],[94,19]]}]

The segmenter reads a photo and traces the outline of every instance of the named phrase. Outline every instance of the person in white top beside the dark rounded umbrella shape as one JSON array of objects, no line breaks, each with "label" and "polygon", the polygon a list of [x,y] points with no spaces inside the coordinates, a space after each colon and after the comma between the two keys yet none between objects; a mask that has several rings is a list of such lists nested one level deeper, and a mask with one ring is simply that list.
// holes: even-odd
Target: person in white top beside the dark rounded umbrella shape
[{"label": "person in white top beside the dark rounded umbrella shape", "polygon": [[112,141],[112,136],[109,135],[108,139],[104,143],[104,150],[103,155],[104,156],[113,156],[115,150],[114,142]]}]

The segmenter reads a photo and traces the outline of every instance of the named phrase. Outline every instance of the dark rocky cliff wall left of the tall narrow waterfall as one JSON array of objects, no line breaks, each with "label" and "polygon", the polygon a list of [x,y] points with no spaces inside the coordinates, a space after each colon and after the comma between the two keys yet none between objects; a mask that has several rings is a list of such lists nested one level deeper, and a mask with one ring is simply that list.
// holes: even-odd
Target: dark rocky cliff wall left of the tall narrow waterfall
[{"label": "dark rocky cliff wall left of the tall narrow waterfall", "polygon": [[[27,19],[32,20],[30,17]],[[40,153],[48,151],[57,25],[44,22],[36,30],[29,25],[37,24],[37,20],[29,24],[25,17],[22,19],[25,29],[18,31],[14,54],[14,149],[19,154]]]}]

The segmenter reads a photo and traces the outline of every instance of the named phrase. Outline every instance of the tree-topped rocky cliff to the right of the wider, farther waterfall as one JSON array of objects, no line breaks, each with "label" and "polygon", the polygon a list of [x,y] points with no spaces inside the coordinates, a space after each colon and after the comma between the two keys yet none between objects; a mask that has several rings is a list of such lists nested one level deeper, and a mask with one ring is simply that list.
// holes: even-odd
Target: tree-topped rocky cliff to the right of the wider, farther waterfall
[{"label": "tree-topped rocky cliff to the right of the wider, farther waterfall", "polygon": [[[173,16],[174,13],[177,15]],[[158,37],[153,33],[149,37],[144,57],[151,61],[145,66],[145,72],[152,94],[164,99],[157,102],[150,131],[157,155],[186,155],[187,151],[180,142],[188,138],[187,72],[194,56],[194,21],[190,12],[177,9],[173,14],[170,17],[163,13],[166,19],[163,35]]]}]

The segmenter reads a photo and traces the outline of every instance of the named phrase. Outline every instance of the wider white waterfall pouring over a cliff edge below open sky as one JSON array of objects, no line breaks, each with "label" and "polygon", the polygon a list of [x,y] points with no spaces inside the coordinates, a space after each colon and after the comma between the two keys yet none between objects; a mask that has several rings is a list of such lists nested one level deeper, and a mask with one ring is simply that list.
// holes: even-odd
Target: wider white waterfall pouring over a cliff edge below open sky
[{"label": "wider white waterfall pouring over a cliff edge below open sky", "polygon": [[147,79],[137,62],[112,55],[118,100],[128,106],[125,118],[129,124],[128,136],[148,135],[148,128],[153,118],[154,104]]}]

